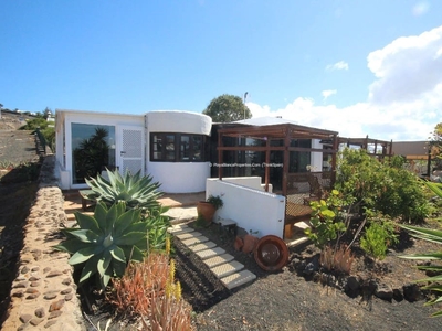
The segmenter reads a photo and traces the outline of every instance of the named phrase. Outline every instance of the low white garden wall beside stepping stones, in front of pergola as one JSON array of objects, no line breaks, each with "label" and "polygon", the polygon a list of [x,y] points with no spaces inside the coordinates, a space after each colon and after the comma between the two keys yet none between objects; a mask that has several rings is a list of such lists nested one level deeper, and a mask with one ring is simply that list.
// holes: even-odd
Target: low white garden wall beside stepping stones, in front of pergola
[{"label": "low white garden wall beside stepping stones, in front of pergola", "polygon": [[230,218],[245,231],[257,231],[259,237],[275,235],[283,238],[285,197],[253,190],[224,180],[208,179],[207,195],[220,195],[224,206],[214,218]]}]

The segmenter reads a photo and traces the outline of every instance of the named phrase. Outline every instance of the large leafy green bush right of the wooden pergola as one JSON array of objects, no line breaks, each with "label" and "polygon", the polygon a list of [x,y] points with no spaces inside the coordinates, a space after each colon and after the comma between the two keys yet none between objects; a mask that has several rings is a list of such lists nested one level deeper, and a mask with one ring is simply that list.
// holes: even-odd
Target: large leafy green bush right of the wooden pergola
[{"label": "large leafy green bush right of the wooden pergola", "polygon": [[335,189],[360,210],[380,211],[392,218],[422,222],[431,212],[421,180],[402,168],[403,160],[385,162],[365,150],[345,149],[339,158]]}]

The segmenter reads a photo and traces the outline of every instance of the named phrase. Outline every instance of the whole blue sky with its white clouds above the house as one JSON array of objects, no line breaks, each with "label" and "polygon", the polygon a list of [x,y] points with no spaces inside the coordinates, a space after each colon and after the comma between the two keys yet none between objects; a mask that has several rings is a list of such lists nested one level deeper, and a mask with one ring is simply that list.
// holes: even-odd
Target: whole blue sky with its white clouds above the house
[{"label": "whole blue sky with its white clouds above the house", "polygon": [[442,1],[3,0],[0,103],[202,111],[243,96],[341,136],[427,139],[442,121]]}]

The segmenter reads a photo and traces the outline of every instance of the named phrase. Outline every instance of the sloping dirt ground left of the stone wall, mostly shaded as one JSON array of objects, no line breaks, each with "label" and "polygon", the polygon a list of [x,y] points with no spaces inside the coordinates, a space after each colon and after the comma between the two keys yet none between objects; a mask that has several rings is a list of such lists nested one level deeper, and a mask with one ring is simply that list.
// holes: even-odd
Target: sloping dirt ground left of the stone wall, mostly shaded
[{"label": "sloping dirt ground left of the stone wall, mostly shaded", "polygon": [[[23,162],[19,169],[8,167]],[[38,190],[39,167],[30,131],[0,130],[0,325],[23,246],[23,225]]]}]

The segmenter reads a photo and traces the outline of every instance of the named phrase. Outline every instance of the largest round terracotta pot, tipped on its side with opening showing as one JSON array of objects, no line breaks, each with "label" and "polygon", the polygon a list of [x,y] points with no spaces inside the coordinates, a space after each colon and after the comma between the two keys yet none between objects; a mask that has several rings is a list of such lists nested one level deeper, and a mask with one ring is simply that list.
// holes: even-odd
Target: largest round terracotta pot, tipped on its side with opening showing
[{"label": "largest round terracotta pot, tipped on its side with opening showing", "polygon": [[256,264],[266,271],[276,271],[288,261],[287,245],[277,236],[262,237],[254,253]]}]

